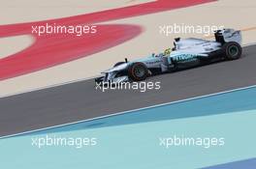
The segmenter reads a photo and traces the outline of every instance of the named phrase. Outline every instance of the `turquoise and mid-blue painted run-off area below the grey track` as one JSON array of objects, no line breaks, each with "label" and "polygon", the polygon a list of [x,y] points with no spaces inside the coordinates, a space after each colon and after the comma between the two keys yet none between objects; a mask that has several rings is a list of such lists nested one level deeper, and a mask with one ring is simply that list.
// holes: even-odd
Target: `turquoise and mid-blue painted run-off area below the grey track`
[{"label": "turquoise and mid-blue painted run-off area below the grey track", "polygon": [[[1,168],[193,169],[256,156],[256,88],[0,139]],[[97,146],[44,147],[35,137],[96,137]],[[159,137],[225,137],[225,146],[166,149]],[[247,168],[245,168],[247,169]]]}]

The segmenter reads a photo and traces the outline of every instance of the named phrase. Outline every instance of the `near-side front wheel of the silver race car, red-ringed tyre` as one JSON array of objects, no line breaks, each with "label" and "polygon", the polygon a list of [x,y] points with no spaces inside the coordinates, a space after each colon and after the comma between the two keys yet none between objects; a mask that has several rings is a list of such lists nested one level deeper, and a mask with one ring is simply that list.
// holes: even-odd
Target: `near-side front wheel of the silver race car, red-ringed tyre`
[{"label": "near-side front wheel of the silver race car, red-ringed tyre", "polygon": [[143,63],[133,63],[128,68],[128,76],[133,81],[142,81],[148,75],[148,70]]}]

